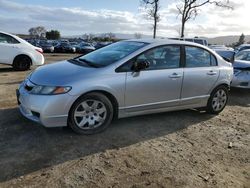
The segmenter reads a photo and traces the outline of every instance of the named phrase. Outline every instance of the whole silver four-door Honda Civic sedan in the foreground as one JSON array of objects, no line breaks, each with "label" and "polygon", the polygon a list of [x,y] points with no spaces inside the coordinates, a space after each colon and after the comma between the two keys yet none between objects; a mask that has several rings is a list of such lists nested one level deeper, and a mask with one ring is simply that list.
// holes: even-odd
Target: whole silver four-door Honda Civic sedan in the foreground
[{"label": "whole silver four-door Honda Civic sedan in the foreground", "polygon": [[94,134],[114,118],[201,107],[218,114],[232,76],[232,65],[205,46],[127,40],[37,68],[17,97],[30,120]]}]

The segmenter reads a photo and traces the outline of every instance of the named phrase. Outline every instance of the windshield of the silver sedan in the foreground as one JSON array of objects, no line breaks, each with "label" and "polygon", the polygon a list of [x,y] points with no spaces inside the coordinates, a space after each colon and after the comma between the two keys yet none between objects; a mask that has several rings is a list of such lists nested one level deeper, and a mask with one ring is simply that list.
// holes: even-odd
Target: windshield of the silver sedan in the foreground
[{"label": "windshield of the silver sedan in the foreground", "polygon": [[78,59],[82,62],[89,62],[96,67],[105,67],[113,64],[138,49],[146,46],[144,42],[122,41],[111,44]]}]

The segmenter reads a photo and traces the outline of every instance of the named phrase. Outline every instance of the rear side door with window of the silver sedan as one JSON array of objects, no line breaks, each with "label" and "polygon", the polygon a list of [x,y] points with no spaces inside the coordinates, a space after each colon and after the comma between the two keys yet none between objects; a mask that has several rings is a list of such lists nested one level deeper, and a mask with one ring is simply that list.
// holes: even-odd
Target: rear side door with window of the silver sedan
[{"label": "rear side door with window of the silver sedan", "polygon": [[185,46],[185,67],[181,98],[183,103],[197,103],[209,97],[220,71],[216,57],[209,51]]}]

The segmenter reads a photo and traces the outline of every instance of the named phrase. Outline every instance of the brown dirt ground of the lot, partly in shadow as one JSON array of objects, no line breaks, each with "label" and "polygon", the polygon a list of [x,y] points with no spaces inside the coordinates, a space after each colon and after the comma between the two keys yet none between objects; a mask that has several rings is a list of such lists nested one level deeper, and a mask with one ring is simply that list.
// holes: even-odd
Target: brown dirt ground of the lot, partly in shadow
[{"label": "brown dirt ground of the lot, partly in shadow", "polygon": [[[70,56],[48,54],[46,63]],[[15,89],[29,72],[0,66],[0,187],[250,188],[249,90],[231,90],[218,116],[126,118],[79,136],[20,115]]]}]

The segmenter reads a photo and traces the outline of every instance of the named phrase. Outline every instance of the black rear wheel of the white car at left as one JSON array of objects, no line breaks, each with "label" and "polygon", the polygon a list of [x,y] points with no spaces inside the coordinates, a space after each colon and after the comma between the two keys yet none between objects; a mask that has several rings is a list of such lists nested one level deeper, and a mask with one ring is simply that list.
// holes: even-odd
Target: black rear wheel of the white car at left
[{"label": "black rear wheel of the white car at left", "polygon": [[29,70],[31,66],[31,59],[26,55],[17,56],[13,61],[13,68],[16,71]]}]

